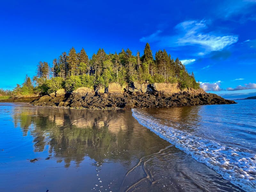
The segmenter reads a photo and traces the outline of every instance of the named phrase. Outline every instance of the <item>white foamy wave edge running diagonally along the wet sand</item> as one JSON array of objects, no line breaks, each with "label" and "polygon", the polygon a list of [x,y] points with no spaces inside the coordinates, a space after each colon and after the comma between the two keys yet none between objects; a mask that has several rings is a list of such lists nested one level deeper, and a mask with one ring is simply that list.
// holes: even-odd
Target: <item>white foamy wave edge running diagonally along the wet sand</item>
[{"label": "white foamy wave edge running diagonally along the wet sand", "polygon": [[137,121],[245,191],[256,191],[256,155],[183,132],[132,109]]}]

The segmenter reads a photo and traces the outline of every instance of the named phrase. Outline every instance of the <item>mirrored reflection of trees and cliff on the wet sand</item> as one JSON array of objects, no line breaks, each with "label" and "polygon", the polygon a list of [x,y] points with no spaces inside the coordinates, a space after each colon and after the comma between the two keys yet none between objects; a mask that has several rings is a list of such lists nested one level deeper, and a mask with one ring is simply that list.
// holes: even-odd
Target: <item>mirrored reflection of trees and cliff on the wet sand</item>
[{"label": "mirrored reflection of trees and cliff on the wet sand", "polygon": [[149,154],[157,150],[154,134],[148,130],[134,132],[142,127],[130,111],[42,107],[13,111],[15,126],[20,126],[23,136],[28,131],[33,136],[35,151],[42,152],[48,147],[50,156],[58,162],[64,161],[66,167],[71,161],[79,165],[86,155],[102,162],[103,159],[130,160],[131,153]]}]

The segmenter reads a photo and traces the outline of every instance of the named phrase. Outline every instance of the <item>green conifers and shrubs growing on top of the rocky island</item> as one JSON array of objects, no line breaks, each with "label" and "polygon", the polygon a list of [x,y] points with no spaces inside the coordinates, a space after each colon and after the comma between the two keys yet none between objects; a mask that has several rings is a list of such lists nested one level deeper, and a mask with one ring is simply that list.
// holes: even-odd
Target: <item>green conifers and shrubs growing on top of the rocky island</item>
[{"label": "green conifers and shrubs growing on top of the rocky island", "polygon": [[63,52],[54,59],[52,67],[40,61],[33,80],[26,76],[24,83],[17,84],[14,92],[50,93],[60,88],[72,91],[78,87],[107,87],[112,82],[121,85],[131,82],[168,82],[179,83],[181,89],[199,88],[194,73],[188,73],[178,58],[174,60],[165,50],[159,50],[153,56],[147,43],[142,56],[139,51],[133,55],[130,49],[107,54],[100,48],[89,58],[84,48],[76,52],[72,47],[68,53]]}]

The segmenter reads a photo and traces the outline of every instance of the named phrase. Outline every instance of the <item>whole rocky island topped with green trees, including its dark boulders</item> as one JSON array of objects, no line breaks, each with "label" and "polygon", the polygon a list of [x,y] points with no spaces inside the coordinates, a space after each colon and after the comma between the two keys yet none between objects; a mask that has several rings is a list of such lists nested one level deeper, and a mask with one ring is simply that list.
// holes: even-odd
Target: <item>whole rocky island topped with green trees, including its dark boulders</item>
[{"label": "whole rocky island topped with green trees, including its dark boulders", "polygon": [[103,49],[89,59],[84,48],[72,47],[54,59],[52,67],[40,61],[37,75],[26,76],[12,91],[14,97],[1,101],[31,102],[36,106],[71,108],[160,108],[172,106],[233,104],[206,93],[194,73],[165,50],[153,57],[147,43],[142,57],[127,49],[107,54]]}]

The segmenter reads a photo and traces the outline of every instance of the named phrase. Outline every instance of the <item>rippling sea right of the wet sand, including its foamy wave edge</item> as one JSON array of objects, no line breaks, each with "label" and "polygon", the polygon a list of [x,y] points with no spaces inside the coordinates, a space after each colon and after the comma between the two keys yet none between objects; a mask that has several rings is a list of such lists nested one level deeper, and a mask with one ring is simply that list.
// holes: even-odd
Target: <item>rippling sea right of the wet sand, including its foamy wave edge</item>
[{"label": "rippling sea right of the wet sand, including its foamy wave edge", "polygon": [[132,109],[138,122],[245,191],[256,191],[256,100]]}]

